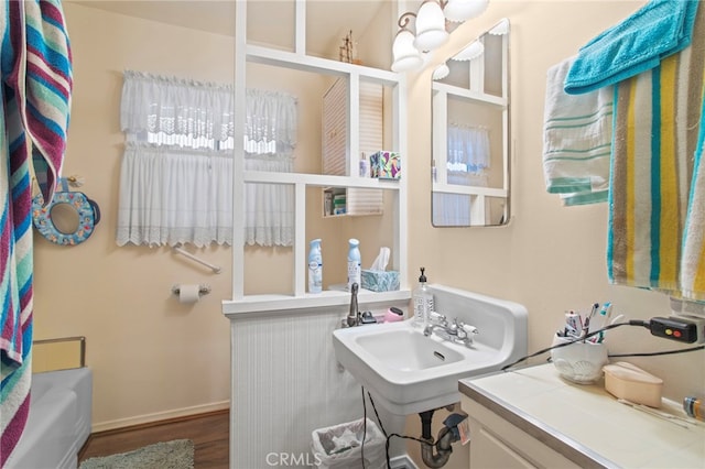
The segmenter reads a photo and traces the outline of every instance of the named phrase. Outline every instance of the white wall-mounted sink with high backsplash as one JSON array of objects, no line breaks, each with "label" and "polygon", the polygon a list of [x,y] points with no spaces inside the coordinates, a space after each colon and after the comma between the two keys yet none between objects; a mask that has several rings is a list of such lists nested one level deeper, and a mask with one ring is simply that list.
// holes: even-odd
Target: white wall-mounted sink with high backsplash
[{"label": "white wall-mounted sink with high backsplash", "polygon": [[[443,301],[447,295],[474,295],[464,298],[470,303],[470,299],[494,299],[441,286],[433,293],[438,310],[444,303],[454,305],[453,301]],[[467,313],[465,307],[463,312]],[[446,316],[485,326],[476,326],[480,334],[470,347],[435,335],[426,337],[408,319],[334,330],[336,358],[372,394],[376,403],[392,414],[410,415],[456,403],[460,400],[460,379],[499,370],[527,350],[527,312],[521,305],[502,302],[501,308],[485,305],[469,312],[475,313],[475,321],[451,310]]]}]

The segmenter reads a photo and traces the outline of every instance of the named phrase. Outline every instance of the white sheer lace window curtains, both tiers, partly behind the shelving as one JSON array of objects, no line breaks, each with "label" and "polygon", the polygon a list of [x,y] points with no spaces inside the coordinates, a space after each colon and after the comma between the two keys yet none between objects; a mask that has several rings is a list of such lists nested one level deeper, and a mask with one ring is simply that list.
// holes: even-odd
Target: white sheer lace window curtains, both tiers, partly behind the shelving
[{"label": "white sheer lace window curtains, both tiers, partly behind the shelving", "polygon": [[[126,72],[117,243],[232,242],[231,86]],[[296,99],[247,90],[246,170],[291,172]],[[292,246],[293,187],[248,184],[248,244]]]}]

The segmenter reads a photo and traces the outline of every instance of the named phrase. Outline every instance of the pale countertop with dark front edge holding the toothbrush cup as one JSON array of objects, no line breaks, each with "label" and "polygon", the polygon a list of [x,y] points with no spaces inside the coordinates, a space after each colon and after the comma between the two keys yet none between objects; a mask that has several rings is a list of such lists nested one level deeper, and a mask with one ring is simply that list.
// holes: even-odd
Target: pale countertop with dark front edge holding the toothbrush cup
[{"label": "pale countertop with dark front edge holding the toothbrush cup", "polygon": [[[459,390],[582,467],[705,468],[705,423],[632,408],[603,381],[574,384],[552,364],[467,378]],[[672,401],[660,411],[685,417]]]}]

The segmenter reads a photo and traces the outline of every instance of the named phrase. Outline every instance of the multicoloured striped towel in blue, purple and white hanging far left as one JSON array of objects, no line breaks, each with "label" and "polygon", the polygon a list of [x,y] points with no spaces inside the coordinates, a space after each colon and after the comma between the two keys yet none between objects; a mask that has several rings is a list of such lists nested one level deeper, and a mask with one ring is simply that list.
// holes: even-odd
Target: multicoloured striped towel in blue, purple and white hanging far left
[{"label": "multicoloured striped towel in blue, purple and white hanging far left", "polygon": [[4,86],[0,112],[0,467],[4,467],[22,435],[30,406],[30,164],[36,163],[44,200],[51,200],[66,146],[73,81],[59,1],[9,1],[0,8]]}]

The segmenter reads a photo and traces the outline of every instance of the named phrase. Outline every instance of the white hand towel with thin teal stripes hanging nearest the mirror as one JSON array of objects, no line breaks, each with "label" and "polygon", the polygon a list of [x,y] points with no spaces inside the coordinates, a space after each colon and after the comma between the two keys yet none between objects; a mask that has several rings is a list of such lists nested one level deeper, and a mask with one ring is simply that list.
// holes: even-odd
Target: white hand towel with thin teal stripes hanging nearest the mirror
[{"label": "white hand towel with thin teal stripes hanging nearest the mirror", "polygon": [[567,95],[565,77],[575,57],[546,73],[543,173],[546,190],[565,205],[607,201],[612,134],[612,92],[603,88]]}]

